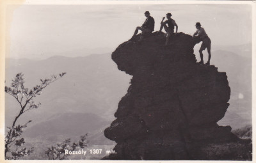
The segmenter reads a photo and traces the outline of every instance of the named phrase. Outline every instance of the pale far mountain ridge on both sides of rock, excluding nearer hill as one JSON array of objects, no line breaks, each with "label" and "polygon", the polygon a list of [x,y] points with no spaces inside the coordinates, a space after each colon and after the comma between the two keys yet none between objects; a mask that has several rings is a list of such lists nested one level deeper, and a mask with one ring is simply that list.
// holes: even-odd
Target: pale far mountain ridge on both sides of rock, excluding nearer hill
[{"label": "pale far mountain ridge on both sides of rock, excluding nearer hill", "polygon": [[[204,56],[207,56],[205,52]],[[237,113],[246,119],[250,117],[252,112],[250,103],[250,99],[252,99],[251,59],[233,52],[218,50],[212,52],[211,64],[218,66],[220,71],[227,72],[231,97],[230,107],[226,114]],[[10,85],[11,80],[18,72],[24,73],[25,86],[28,87],[38,84],[39,79],[49,77],[51,74],[67,72],[63,79],[52,83],[42,95],[36,98],[36,101],[41,102],[42,106],[31,113],[28,112],[22,119],[36,117],[40,114],[45,114],[45,118],[47,118],[60,113],[60,111],[74,110],[75,112],[82,111],[82,113],[84,111],[99,113],[105,118],[113,120],[111,113],[115,111],[118,100],[125,94],[125,87],[128,88],[131,78],[117,70],[115,63],[111,60],[111,54],[94,54],[77,58],[53,56],[40,61],[6,59],[6,85]],[[243,99],[238,98],[239,93],[243,94]],[[15,108],[16,105],[12,97],[6,95],[7,124],[8,121],[12,121]],[[20,121],[26,123],[22,119]],[[243,121],[242,119],[238,121]],[[35,120],[42,121],[40,117]],[[225,120],[225,125],[227,125],[226,122],[228,119]],[[236,124],[230,125],[233,127]]]}]

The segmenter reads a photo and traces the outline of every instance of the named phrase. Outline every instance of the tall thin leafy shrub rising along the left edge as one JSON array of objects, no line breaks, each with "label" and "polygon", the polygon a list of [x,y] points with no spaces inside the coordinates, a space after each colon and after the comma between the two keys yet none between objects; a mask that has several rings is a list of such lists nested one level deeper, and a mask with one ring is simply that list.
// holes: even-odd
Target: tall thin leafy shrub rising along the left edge
[{"label": "tall thin leafy shrub rising along the left edge", "polygon": [[[20,149],[20,146],[22,144],[25,144],[25,141],[23,138],[18,139],[20,135],[22,134],[22,128],[27,127],[27,124],[31,121],[28,121],[25,125],[17,125],[15,126],[16,121],[20,118],[22,114],[24,114],[26,111],[30,111],[31,109],[37,109],[41,103],[35,104],[33,101],[33,98],[35,98],[37,95],[40,95],[40,92],[42,89],[46,88],[49,84],[51,84],[54,81],[57,81],[63,75],[66,73],[63,72],[57,75],[51,75],[51,79],[40,79],[41,83],[39,85],[36,85],[35,87],[28,89],[24,87],[24,78],[23,74],[19,73],[15,76],[15,78],[12,80],[12,84],[10,87],[5,86],[4,91],[15,98],[15,100],[20,105],[20,111],[17,116],[15,116],[15,119],[13,120],[12,127],[8,127],[8,132],[6,134],[6,137],[4,139],[5,142],[5,150],[4,150],[4,157],[6,159],[19,159],[20,157],[23,157],[24,155],[29,155],[31,152],[33,152],[33,148],[27,150],[26,148]],[[12,147],[13,146],[13,147]],[[14,148],[14,149],[13,149]],[[7,153],[10,152],[9,155]],[[48,156],[49,157],[49,156]]]}]

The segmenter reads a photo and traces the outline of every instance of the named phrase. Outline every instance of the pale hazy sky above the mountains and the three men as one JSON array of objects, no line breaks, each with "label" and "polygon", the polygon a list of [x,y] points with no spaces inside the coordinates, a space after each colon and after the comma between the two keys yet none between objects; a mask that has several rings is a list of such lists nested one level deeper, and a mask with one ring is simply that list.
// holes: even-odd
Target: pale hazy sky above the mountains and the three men
[{"label": "pale hazy sky above the mountains and the three men", "polygon": [[248,4],[22,5],[10,22],[7,56],[49,58],[112,52],[143,24],[146,10],[155,19],[155,31],[167,12],[177,22],[178,32],[193,35],[195,23],[201,22],[212,49],[252,42]]}]

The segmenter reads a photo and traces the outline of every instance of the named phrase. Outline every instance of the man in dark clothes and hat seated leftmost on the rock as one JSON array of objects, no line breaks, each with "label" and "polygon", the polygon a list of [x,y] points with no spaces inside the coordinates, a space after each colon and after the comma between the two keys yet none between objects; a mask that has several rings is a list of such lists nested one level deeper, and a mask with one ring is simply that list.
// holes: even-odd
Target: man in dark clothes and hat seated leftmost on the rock
[{"label": "man in dark clothes and hat seated leftmost on the rock", "polygon": [[141,36],[140,36],[139,42],[143,39],[145,35],[152,33],[152,31],[154,31],[154,27],[155,27],[154,18],[150,16],[150,13],[148,11],[146,11],[144,15],[145,17],[147,17],[147,19],[145,20],[145,22],[142,24],[141,27],[136,27],[134,31],[134,35],[132,36],[131,40],[135,38],[139,30],[141,30]]}]

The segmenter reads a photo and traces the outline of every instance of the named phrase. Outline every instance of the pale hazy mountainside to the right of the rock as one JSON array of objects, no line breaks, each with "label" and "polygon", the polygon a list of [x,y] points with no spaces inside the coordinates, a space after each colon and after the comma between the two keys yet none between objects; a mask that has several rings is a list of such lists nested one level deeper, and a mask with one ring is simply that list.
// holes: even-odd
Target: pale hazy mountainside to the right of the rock
[{"label": "pale hazy mountainside to the right of the rock", "polygon": [[[240,128],[252,123],[252,56],[245,57],[226,50],[212,52],[211,63],[226,72],[231,88],[230,106],[218,122]],[[236,114],[236,116],[235,116]]]}]

